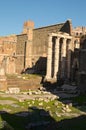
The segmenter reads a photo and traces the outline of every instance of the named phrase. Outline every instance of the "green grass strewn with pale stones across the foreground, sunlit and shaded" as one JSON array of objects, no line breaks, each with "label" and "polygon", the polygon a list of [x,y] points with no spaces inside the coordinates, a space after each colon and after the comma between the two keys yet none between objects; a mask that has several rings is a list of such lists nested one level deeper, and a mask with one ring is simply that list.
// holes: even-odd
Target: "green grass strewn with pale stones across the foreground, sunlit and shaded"
[{"label": "green grass strewn with pale stones across the foreground, sunlit and shaded", "polygon": [[[62,116],[58,117],[56,115],[59,113],[62,113],[63,103],[58,100],[25,100],[19,102],[15,98],[11,97],[0,97],[0,100],[13,100],[16,101],[15,103],[11,105],[0,105],[0,110],[5,110],[5,113],[1,114],[0,123],[2,121],[6,121],[14,130],[24,130],[25,126],[27,126],[29,123],[36,123],[40,121],[50,121],[50,124],[54,122],[55,124],[58,124],[58,130],[82,130],[86,129],[86,116],[80,116],[80,117],[72,117],[71,113],[79,114],[80,110],[75,107],[70,107],[71,112],[68,113],[69,116],[65,116],[63,114]],[[85,95],[82,97],[81,95],[79,97],[71,98],[74,102],[84,102]],[[64,105],[65,106],[65,105]],[[6,110],[11,110],[10,112]],[[83,111],[83,110],[82,110]],[[40,115],[40,113],[44,113],[44,115]],[[28,113],[27,116],[21,116],[23,113]],[[17,115],[17,114],[20,114]],[[79,127],[78,127],[79,124]],[[52,127],[51,127],[52,129]],[[6,128],[3,128],[3,130],[7,130]],[[43,126],[40,126],[39,128],[32,128],[32,130],[45,130]],[[50,129],[49,129],[50,130]],[[53,130],[57,130],[57,127]]]}]

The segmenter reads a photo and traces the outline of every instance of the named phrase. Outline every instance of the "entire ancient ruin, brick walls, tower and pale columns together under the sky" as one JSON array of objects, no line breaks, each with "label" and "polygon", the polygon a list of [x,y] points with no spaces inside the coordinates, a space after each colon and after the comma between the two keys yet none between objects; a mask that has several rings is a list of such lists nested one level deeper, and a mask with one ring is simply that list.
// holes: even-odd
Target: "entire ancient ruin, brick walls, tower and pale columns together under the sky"
[{"label": "entire ancient ruin, brick walls, tower and pale columns together under the sky", "polygon": [[0,37],[0,68],[6,74],[32,70],[49,81],[76,81],[86,73],[85,34],[86,28],[73,28],[71,20],[36,29],[26,21],[21,34]]}]

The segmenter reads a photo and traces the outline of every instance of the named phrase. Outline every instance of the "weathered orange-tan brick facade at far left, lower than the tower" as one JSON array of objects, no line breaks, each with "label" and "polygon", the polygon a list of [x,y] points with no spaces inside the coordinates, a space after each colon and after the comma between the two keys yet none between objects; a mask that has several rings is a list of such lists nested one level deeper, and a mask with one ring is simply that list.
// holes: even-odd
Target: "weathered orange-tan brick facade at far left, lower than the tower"
[{"label": "weathered orange-tan brick facade at far left, lower than the tower", "polygon": [[0,66],[3,66],[8,74],[15,73],[16,41],[16,35],[0,37]]}]

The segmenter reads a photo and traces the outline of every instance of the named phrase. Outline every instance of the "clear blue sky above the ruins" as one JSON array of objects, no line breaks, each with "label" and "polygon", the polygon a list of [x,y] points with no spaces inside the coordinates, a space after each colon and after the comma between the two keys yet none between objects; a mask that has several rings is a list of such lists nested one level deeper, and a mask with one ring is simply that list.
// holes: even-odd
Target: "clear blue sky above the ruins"
[{"label": "clear blue sky above the ruins", "polygon": [[25,21],[35,28],[72,20],[86,26],[86,0],[0,0],[0,36],[20,34]]}]

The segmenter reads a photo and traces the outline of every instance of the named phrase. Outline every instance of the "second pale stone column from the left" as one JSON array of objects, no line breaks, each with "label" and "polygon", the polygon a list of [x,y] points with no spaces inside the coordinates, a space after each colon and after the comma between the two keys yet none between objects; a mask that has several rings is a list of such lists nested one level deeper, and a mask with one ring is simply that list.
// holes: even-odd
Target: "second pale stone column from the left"
[{"label": "second pale stone column from the left", "polygon": [[59,40],[60,38],[56,38],[56,44],[55,44],[55,63],[54,63],[54,79],[57,79],[58,71],[59,71]]}]

